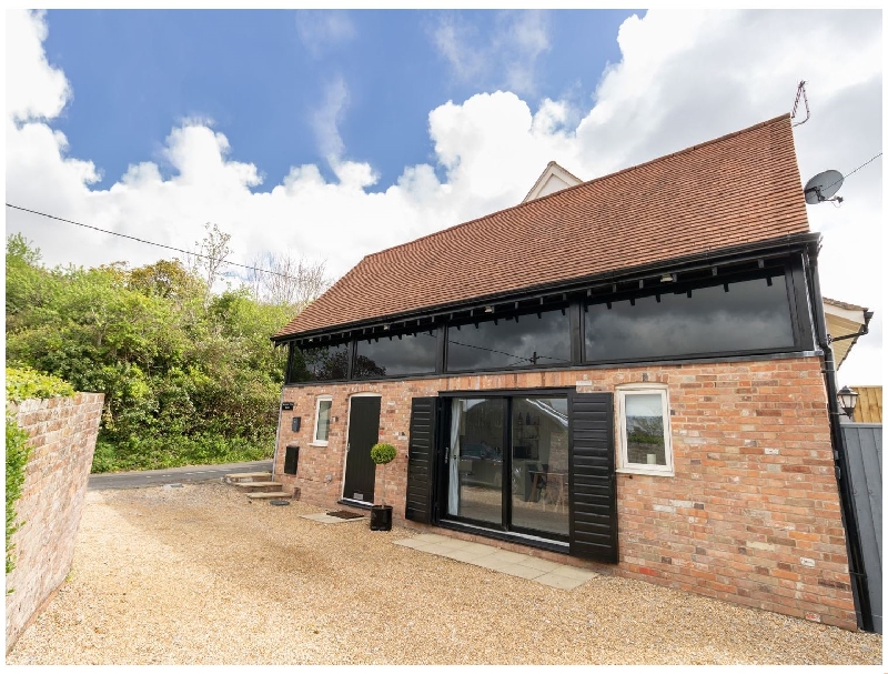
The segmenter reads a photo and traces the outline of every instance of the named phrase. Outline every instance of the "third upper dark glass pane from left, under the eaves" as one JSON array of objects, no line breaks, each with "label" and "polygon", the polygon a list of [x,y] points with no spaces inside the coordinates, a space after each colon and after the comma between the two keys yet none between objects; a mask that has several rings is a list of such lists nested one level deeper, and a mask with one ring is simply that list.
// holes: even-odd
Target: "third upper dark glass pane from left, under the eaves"
[{"label": "third upper dark glass pane from left, under the eaves", "polygon": [[447,330],[447,370],[571,364],[571,321],[556,309]]}]

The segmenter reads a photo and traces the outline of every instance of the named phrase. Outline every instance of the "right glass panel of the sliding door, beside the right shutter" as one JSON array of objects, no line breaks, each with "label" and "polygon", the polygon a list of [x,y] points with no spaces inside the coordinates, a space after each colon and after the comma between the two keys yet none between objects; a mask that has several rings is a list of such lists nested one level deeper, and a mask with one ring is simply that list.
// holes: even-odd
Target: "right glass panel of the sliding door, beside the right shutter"
[{"label": "right glass panel of the sliding door, beside the right shutter", "polygon": [[569,535],[567,399],[512,399],[512,525]]}]

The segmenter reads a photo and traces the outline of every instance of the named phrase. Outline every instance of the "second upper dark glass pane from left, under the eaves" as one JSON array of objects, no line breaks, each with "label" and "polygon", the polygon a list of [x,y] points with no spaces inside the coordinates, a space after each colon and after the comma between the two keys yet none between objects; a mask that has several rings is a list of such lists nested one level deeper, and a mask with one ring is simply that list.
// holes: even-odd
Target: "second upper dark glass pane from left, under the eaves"
[{"label": "second upper dark glass pane from left, under the eaves", "polygon": [[359,340],[354,379],[434,372],[436,350],[437,330]]}]

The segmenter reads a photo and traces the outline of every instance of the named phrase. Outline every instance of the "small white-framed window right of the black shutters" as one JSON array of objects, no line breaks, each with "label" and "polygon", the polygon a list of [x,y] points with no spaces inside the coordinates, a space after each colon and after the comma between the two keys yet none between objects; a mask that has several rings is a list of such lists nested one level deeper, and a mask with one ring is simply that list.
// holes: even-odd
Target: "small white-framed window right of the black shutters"
[{"label": "small white-framed window right of the black shutters", "polygon": [[617,470],[675,475],[669,392],[663,384],[617,388]]}]

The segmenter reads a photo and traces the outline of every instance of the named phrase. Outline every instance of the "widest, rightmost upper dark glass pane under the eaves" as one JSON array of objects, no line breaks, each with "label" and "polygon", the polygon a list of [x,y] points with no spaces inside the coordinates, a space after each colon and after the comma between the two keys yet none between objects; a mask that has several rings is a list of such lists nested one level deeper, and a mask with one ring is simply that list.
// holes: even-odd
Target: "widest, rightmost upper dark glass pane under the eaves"
[{"label": "widest, rightmost upper dark glass pane under the eaves", "polygon": [[[727,290],[725,290],[727,288]],[[586,361],[793,346],[783,273],[591,304]]]}]

